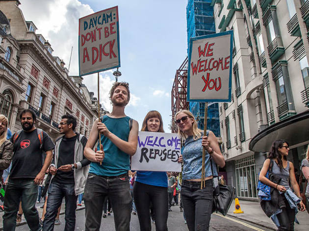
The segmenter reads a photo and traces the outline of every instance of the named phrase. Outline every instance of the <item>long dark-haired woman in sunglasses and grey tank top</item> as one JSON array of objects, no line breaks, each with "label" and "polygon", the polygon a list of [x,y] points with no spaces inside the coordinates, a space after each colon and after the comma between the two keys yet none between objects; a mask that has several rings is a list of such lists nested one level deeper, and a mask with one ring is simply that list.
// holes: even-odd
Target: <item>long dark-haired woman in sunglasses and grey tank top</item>
[{"label": "long dark-haired woman in sunglasses and grey tank top", "polygon": [[[279,228],[277,231],[293,231],[294,230],[294,221],[295,221],[296,211],[294,208],[290,207],[291,201],[287,200],[287,195],[285,195],[285,194],[288,194],[288,195],[293,194],[293,192],[290,189],[289,181],[290,181],[292,188],[294,189],[294,194],[296,194],[297,197],[301,198],[299,186],[295,178],[294,165],[292,162],[289,162],[286,159],[289,150],[290,149],[288,147],[288,143],[285,140],[278,139],[274,141],[270,148],[268,157],[263,163],[263,167],[258,177],[258,180],[260,182],[262,182],[265,185],[269,185],[270,187],[273,187],[275,188],[275,190],[279,191],[279,198],[277,198],[276,200],[275,200],[275,195],[271,193],[272,206],[275,206],[277,203],[278,209],[282,209],[282,212],[277,214],[277,218],[279,220],[279,224],[276,224]],[[281,181],[279,182],[280,185],[270,181],[266,177],[266,173],[270,167],[271,167],[272,173],[275,176],[281,178]],[[282,204],[279,207],[280,201],[282,202]],[[306,207],[301,200],[299,202],[299,206],[301,208],[301,211],[305,211]],[[269,207],[263,208],[263,210],[267,213],[270,212],[268,211],[269,209],[270,209]]]}]

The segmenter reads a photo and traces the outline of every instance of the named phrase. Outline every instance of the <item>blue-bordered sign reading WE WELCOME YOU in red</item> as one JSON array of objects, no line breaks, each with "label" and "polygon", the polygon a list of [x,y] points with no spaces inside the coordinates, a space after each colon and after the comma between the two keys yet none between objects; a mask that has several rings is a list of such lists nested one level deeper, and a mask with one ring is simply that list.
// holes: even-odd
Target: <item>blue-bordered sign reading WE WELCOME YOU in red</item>
[{"label": "blue-bordered sign reading WE WELCOME YOU in red", "polygon": [[190,38],[188,101],[230,102],[233,32]]}]

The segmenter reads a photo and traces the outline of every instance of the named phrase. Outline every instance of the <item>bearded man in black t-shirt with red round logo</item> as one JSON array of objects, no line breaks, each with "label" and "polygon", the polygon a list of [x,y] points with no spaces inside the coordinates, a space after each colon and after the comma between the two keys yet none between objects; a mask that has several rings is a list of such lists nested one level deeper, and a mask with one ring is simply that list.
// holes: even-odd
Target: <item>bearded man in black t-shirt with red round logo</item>
[{"label": "bearded man in black t-shirt with red round logo", "polygon": [[[52,161],[54,144],[51,138],[34,124],[36,115],[26,109],[20,114],[22,131],[11,138],[13,143],[12,168],[4,196],[3,230],[14,231],[19,202],[22,201],[27,224],[31,231],[41,230],[39,213],[35,208],[38,185]],[[43,152],[46,158],[43,163]]]}]

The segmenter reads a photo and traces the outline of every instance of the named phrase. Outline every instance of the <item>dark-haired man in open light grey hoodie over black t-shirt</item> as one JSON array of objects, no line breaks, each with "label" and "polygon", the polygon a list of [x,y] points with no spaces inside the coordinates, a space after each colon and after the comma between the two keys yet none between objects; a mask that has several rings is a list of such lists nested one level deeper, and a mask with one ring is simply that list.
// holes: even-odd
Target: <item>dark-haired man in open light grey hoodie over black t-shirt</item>
[{"label": "dark-haired man in open light grey hoodie over black t-shirt", "polygon": [[65,231],[75,230],[77,195],[84,192],[89,163],[83,153],[87,139],[74,132],[77,120],[73,115],[62,115],[59,132],[64,136],[55,143],[50,167],[52,180],[48,191],[43,231],[52,231],[57,210],[65,198]]}]

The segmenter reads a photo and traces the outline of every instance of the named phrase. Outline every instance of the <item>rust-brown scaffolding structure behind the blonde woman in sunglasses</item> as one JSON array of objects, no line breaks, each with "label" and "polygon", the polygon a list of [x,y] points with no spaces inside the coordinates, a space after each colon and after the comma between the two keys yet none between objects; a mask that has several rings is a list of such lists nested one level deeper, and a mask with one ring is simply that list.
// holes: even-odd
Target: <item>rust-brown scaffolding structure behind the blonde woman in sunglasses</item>
[{"label": "rust-brown scaffolding structure behind the blonde woman in sunglasses", "polygon": [[171,92],[172,98],[172,119],[170,129],[172,133],[177,132],[175,124],[175,115],[180,110],[189,110],[189,102],[187,102],[187,76],[188,76],[188,57],[185,58],[180,68],[176,70],[173,88]]}]

